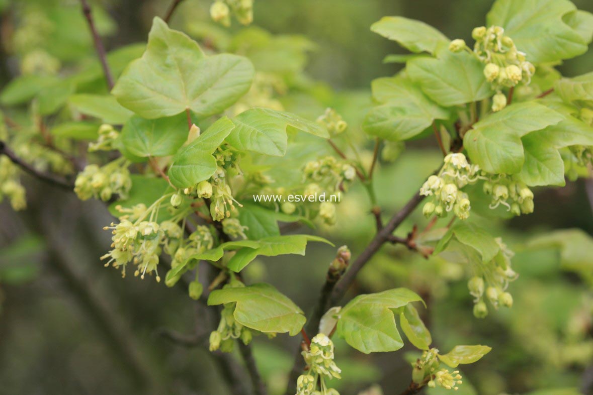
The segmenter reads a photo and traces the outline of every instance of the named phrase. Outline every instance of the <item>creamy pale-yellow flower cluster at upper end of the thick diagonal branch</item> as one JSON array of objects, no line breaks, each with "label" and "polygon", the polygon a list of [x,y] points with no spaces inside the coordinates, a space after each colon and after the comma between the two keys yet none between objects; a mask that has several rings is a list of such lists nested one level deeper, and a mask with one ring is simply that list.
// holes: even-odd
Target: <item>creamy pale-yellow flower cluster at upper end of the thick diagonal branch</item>
[{"label": "creamy pale-yellow flower cluster at upper end of the thick diagonal branch", "polygon": [[480,166],[470,165],[463,153],[449,153],[445,156],[444,165],[437,175],[429,176],[420,188],[420,195],[432,196],[432,201],[426,203],[422,209],[426,217],[435,214],[446,216],[453,211],[459,219],[465,220],[470,216],[470,200],[461,188],[468,184],[475,184],[481,175]]}]

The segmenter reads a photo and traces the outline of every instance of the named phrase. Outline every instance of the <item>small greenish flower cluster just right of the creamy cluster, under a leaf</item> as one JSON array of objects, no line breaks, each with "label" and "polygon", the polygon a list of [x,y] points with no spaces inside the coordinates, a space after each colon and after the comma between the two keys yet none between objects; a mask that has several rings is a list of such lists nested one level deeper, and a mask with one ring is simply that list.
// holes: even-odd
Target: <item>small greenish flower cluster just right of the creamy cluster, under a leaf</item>
[{"label": "small greenish flower cluster just right of the creamy cluster, under a leaf", "polygon": [[484,181],[483,188],[484,193],[492,196],[490,208],[494,209],[502,204],[515,216],[533,213],[533,192],[512,176],[493,176],[489,181]]}]

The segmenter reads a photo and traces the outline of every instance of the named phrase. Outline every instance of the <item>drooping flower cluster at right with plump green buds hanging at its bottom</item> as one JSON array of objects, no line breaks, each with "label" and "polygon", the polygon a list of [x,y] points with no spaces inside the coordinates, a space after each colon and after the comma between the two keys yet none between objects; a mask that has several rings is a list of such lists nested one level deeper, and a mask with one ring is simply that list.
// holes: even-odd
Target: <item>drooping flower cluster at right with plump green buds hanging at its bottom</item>
[{"label": "drooping flower cluster at right with plump green buds hanging at its bottom", "polygon": [[519,275],[511,268],[514,253],[507,248],[500,238],[496,239],[500,252],[492,261],[476,266],[476,275],[467,283],[470,295],[474,297],[474,316],[484,318],[488,315],[485,300],[495,309],[499,306],[512,307],[513,297],[506,292],[509,282],[517,280]]}]

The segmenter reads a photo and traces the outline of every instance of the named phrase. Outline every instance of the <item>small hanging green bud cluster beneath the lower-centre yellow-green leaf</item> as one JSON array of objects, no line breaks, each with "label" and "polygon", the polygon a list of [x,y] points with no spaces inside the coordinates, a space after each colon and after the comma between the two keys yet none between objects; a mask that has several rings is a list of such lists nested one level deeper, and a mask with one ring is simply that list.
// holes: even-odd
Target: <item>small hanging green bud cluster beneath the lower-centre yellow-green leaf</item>
[{"label": "small hanging green bud cluster beneath the lower-centre yellow-green leaf", "polygon": [[[244,287],[245,285],[240,281],[231,281],[225,285],[227,287]],[[218,324],[218,328],[210,333],[210,351],[216,351],[220,349],[222,352],[231,352],[234,346],[235,339],[241,339],[241,341],[248,345],[253,339],[253,333],[248,327],[241,325],[235,320],[235,307],[237,303],[227,303],[224,305],[224,309],[221,311],[221,320]]]}]

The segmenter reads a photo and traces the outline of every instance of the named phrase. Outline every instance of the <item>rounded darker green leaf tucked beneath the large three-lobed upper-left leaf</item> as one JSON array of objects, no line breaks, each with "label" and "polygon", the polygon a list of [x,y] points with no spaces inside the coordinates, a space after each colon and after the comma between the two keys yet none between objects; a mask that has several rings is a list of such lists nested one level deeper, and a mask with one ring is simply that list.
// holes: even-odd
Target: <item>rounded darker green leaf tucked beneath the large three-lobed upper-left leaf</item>
[{"label": "rounded darker green leaf tucked beneath the large three-lobed upper-left leaf", "polygon": [[184,115],[155,120],[134,115],[123,126],[120,138],[128,152],[146,158],[173,155],[187,140],[187,133]]}]

